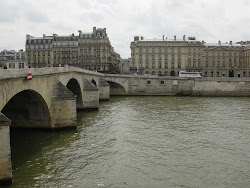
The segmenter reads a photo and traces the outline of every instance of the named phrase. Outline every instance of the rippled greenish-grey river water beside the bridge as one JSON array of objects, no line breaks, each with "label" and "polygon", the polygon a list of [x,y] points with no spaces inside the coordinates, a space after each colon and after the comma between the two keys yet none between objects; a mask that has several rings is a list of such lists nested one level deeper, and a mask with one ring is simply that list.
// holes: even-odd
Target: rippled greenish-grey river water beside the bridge
[{"label": "rippled greenish-grey river water beside the bridge", "polygon": [[250,187],[250,98],[113,97],[76,130],[11,130],[24,187]]}]

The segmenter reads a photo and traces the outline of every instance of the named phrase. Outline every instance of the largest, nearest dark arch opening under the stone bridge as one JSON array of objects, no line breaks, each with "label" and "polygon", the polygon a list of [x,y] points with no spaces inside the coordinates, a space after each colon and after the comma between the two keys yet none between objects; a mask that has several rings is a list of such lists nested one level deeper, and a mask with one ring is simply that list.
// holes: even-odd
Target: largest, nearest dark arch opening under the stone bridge
[{"label": "largest, nearest dark arch opening under the stone bridge", "polygon": [[44,98],[34,90],[14,95],[1,111],[11,120],[11,127],[50,128],[51,116]]}]

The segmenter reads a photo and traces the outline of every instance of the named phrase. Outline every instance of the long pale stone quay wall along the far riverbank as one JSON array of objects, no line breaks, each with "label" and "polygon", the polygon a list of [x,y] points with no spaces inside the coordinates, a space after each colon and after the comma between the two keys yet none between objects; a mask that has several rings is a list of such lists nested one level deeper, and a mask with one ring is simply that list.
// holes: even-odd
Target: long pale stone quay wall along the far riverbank
[{"label": "long pale stone quay wall along the far riverbank", "polygon": [[250,78],[131,78],[127,95],[248,97]]}]

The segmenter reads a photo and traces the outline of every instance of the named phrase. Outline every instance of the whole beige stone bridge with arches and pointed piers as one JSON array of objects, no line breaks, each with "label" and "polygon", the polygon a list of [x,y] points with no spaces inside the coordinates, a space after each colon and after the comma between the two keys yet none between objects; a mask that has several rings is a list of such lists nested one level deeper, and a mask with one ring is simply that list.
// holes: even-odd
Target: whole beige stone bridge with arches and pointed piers
[{"label": "whole beige stone bridge with arches and pointed piers", "polygon": [[12,179],[9,126],[76,127],[77,109],[99,108],[110,94],[126,94],[127,83],[74,67],[0,69],[0,184]]}]

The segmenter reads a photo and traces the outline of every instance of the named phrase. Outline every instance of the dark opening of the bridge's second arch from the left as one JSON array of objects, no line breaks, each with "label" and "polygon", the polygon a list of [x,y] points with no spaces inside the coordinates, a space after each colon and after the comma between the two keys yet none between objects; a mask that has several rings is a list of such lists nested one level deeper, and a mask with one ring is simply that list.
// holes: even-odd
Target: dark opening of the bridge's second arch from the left
[{"label": "dark opening of the bridge's second arch from the left", "polygon": [[76,107],[82,108],[82,90],[78,81],[75,78],[71,78],[66,87],[76,96]]}]

